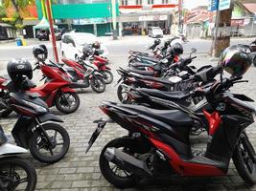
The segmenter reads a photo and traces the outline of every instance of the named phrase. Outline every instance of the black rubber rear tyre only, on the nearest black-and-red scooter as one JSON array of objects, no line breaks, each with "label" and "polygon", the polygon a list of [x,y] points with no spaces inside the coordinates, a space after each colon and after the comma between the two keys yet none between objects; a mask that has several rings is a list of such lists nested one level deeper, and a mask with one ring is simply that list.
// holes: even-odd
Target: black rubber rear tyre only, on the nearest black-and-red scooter
[{"label": "black rubber rear tyre only, on the nearest black-and-red scooter", "polygon": [[114,147],[114,148],[124,147],[126,149],[134,150],[138,148],[138,145],[136,145],[136,142],[132,138],[115,138],[109,141],[105,145],[104,149],[101,152],[100,161],[99,161],[100,169],[103,176],[105,177],[105,180],[109,181],[110,183],[112,183],[114,186],[118,188],[129,188],[134,186],[137,180],[136,176],[130,174],[127,177],[120,177],[113,172],[113,168],[111,168],[109,164],[110,162],[107,159],[105,159],[105,150],[108,147]]}]

